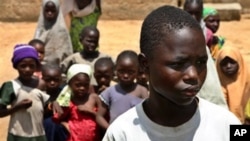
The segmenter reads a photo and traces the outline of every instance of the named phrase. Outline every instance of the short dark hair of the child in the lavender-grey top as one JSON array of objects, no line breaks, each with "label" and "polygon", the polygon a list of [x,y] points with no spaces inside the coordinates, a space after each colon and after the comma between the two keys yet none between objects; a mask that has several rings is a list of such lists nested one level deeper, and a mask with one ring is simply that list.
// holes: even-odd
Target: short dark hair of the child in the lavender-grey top
[{"label": "short dark hair of the child in the lavender-grey top", "polygon": [[121,59],[124,59],[124,58],[131,58],[136,63],[136,65],[139,64],[139,62],[138,62],[138,55],[133,50],[124,50],[124,51],[122,51],[117,56],[116,63],[119,62]]}]

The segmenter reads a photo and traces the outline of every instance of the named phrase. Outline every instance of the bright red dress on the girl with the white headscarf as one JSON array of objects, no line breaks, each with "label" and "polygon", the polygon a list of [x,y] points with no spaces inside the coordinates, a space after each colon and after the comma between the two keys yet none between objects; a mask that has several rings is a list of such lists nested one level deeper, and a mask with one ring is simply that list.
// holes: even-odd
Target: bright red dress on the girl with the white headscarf
[{"label": "bright red dress on the girl with the white headscarf", "polygon": [[80,112],[77,106],[70,102],[69,107],[63,108],[63,115],[58,118],[55,114],[53,120],[56,122],[68,121],[70,135],[67,141],[99,141],[99,130],[95,117],[89,113]]}]

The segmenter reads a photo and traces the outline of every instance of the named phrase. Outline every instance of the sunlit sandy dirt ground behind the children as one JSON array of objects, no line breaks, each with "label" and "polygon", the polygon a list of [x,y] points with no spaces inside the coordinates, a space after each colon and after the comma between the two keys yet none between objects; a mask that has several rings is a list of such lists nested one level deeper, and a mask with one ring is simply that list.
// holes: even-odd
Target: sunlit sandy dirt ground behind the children
[{"label": "sunlit sandy dirt ground behind the children", "polygon": [[[100,51],[113,56],[124,49],[139,52],[139,33],[142,21],[100,21]],[[243,15],[241,21],[221,22],[218,35],[226,38],[226,46],[237,47],[250,65],[250,15]],[[17,76],[12,68],[11,55],[17,43],[32,39],[36,23],[0,22],[0,85]],[[8,117],[0,119],[0,141],[6,140]]]}]

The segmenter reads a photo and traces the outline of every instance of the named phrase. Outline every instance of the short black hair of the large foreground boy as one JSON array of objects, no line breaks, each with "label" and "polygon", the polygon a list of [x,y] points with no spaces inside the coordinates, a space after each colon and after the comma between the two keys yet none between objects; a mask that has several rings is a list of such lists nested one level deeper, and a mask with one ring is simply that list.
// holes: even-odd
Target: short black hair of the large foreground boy
[{"label": "short black hair of the large foreground boy", "polygon": [[140,37],[140,51],[153,57],[152,51],[166,36],[184,27],[202,29],[199,23],[187,12],[173,6],[162,6],[152,11],[143,21]]}]

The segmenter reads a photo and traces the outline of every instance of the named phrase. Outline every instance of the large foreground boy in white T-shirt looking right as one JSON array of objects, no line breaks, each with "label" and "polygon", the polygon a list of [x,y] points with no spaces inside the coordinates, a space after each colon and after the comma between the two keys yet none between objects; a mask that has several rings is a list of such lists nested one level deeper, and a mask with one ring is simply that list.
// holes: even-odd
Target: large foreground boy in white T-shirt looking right
[{"label": "large foreground boy in white T-shirt looking right", "polygon": [[143,21],[139,62],[149,98],[119,116],[103,141],[229,141],[228,110],[197,97],[207,53],[200,25],[185,11],[162,6]]}]

